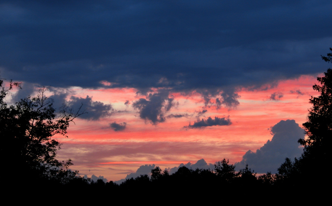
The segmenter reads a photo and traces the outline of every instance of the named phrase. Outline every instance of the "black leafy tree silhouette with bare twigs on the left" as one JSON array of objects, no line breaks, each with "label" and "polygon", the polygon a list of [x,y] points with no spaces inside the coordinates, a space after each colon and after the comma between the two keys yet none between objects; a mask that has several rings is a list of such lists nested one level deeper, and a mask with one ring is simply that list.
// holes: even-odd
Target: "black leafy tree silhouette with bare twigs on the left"
[{"label": "black leafy tree silhouette with bare twigs on the left", "polygon": [[46,179],[64,184],[74,178],[78,171],[68,170],[73,165],[71,160],[60,162],[56,159],[61,143],[54,139],[54,135],[67,137],[69,123],[82,115],[82,112],[79,113],[78,110],[74,114],[63,105],[57,115],[53,100],[45,97],[48,90],[46,87],[42,87],[36,97],[29,96],[14,105],[7,105],[6,97],[11,94],[13,86],[19,87],[20,84],[11,81],[9,88],[5,88],[3,84],[0,79],[2,164],[10,168],[12,174],[25,174],[34,180]]}]

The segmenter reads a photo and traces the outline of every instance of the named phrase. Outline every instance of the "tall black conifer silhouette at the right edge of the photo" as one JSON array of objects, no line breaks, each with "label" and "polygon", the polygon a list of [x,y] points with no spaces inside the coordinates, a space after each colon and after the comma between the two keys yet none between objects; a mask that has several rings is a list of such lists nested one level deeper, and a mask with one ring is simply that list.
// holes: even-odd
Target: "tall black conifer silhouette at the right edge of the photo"
[{"label": "tall black conifer silhouette at the right edge of the photo", "polygon": [[[332,63],[332,53],[327,54],[327,57],[322,56],[322,59]],[[307,138],[298,140],[304,146],[303,153],[301,157],[295,158],[294,163],[286,158],[278,168],[282,184],[299,188],[326,184],[326,177],[321,174],[318,166],[327,164],[331,155],[332,70],[328,68],[324,74],[324,77],[317,77],[320,85],[313,85],[313,89],[320,95],[311,97],[309,101],[313,106],[309,109],[307,122],[303,123]]]}]

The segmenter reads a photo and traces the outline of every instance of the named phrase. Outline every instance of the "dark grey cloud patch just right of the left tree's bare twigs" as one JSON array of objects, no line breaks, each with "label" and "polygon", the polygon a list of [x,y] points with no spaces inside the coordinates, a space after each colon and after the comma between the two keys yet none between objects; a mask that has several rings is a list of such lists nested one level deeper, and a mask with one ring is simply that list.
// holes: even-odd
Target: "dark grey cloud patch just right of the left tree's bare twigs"
[{"label": "dark grey cloud patch just right of the left tree's bare twigs", "polygon": [[111,104],[92,101],[92,97],[89,96],[86,96],[86,98],[72,96],[67,104],[70,108],[80,108],[82,105],[81,111],[87,113],[79,118],[86,120],[99,120],[100,118],[111,116],[114,111]]}]

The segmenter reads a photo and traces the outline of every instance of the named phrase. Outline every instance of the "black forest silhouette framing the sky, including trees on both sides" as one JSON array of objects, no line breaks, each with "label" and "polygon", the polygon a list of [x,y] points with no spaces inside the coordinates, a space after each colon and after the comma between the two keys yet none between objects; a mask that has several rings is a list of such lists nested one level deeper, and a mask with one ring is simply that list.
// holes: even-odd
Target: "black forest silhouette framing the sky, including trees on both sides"
[{"label": "black forest silhouette framing the sky, including trees on both sides", "polygon": [[[332,63],[332,53],[322,56],[322,59]],[[66,136],[69,123],[84,115],[84,112],[79,109],[74,113],[63,105],[60,112],[56,113],[53,100],[45,97],[46,87],[42,87],[36,97],[27,97],[9,106],[6,97],[11,94],[13,87],[20,87],[20,84],[11,81],[6,88],[0,79],[1,161],[14,177],[5,178],[3,187],[14,185],[25,191],[33,185],[38,188],[73,189],[120,196],[146,195],[148,191],[155,196],[185,193],[223,194],[227,197],[239,195],[241,188],[242,195],[319,189],[330,182],[330,176],[323,175],[320,167],[327,164],[327,158],[331,156],[332,138],[332,70],[328,68],[324,74],[324,77],[317,78],[320,85],[313,86],[320,96],[310,99],[312,107],[307,122],[303,124],[307,138],[298,140],[303,146],[303,153],[294,160],[286,157],[277,169],[278,173],[267,171],[257,176],[248,165],[235,172],[235,166],[224,158],[215,164],[213,170],[188,169],[183,166],[170,174],[167,170],[155,167],[151,170],[151,177],[140,175],[126,179],[120,185],[113,181],[83,178],[78,175],[78,171],[69,169],[73,165],[70,159],[66,162],[56,159],[56,151],[60,149],[61,143],[53,136]],[[2,177],[8,175],[8,170],[2,169]],[[319,194],[320,190],[314,192]]]}]

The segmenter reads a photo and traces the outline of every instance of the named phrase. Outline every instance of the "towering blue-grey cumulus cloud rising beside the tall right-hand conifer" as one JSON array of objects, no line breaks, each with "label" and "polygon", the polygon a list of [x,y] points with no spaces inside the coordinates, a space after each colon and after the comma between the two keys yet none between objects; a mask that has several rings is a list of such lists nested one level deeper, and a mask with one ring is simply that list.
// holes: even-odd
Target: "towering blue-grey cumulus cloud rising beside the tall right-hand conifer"
[{"label": "towering blue-grey cumulus cloud rising beside the tall right-hand conifer", "polygon": [[304,129],[299,127],[295,120],[281,120],[271,127],[272,140],[257,149],[256,152],[247,151],[242,161],[235,163],[236,169],[245,168],[248,164],[250,168],[258,173],[271,171],[277,172],[277,168],[284,162],[286,157],[299,157],[303,149],[299,147],[297,141],[304,138]]}]

